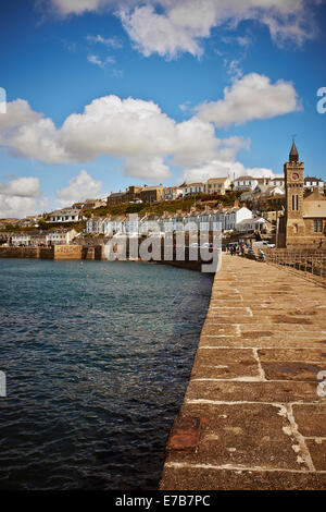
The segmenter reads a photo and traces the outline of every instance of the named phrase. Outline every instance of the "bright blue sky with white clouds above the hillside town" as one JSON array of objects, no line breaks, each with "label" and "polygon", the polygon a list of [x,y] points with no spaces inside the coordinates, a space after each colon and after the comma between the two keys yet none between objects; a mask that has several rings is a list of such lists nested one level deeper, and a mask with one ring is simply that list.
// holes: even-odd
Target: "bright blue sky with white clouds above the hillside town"
[{"label": "bright blue sky with white clouds above the hillside town", "polygon": [[0,218],[281,174],[292,134],[326,180],[325,21],[323,0],[2,0]]}]

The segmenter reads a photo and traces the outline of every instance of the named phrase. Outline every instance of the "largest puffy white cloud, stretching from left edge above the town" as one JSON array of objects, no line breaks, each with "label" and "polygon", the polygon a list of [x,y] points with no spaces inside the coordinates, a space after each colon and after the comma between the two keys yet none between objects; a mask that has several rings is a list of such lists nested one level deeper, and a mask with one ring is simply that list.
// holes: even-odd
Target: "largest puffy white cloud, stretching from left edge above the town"
[{"label": "largest puffy white cloud, stretching from left edge above the town", "polygon": [[[217,138],[206,121],[195,117],[176,123],[152,101],[122,100],[113,95],[95,99],[83,113],[68,115],[59,130],[51,119],[41,117],[0,132],[0,141],[11,153],[46,163],[82,163],[100,155],[123,158],[125,172],[139,176],[143,172],[148,178],[151,169],[153,181],[171,174],[164,163],[167,157],[176,166],[193,166],[230,150],[230,143]],[[140,166],[140,160],[146,164]]]}]

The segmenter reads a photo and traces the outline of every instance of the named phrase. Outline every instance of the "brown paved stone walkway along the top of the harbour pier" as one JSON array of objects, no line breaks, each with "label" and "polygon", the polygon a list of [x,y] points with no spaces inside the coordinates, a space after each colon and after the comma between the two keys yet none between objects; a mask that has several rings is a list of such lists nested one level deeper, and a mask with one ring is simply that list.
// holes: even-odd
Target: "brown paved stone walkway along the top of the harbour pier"
[{"label": "brown paved stone walkway along the top of the harbour pier", "polygon": [[225,255],[160,488],[326,489],[323,370],[325,289]]}]

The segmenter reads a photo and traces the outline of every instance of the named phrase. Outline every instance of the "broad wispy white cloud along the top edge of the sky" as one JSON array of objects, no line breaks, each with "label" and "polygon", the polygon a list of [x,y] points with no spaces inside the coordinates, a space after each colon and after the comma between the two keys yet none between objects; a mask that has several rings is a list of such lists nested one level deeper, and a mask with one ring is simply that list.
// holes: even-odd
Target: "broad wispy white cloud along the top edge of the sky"
[{"label": "broad wispy white cloud along the top edge of the sky", "polygon": [[[145,56],[200,57],[212,28],[236,28],[256,21],[268,27],[274,42],[301,46],[316,35],[313,7],[322,0],[52,0],[61,15],[110,9],[122,20],[135,47]],[[156,10],[160,9],[160,11]],[[247,45],[248,39],[238,40]]]}]

